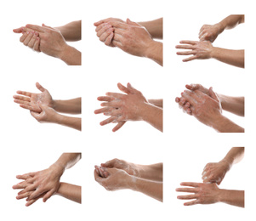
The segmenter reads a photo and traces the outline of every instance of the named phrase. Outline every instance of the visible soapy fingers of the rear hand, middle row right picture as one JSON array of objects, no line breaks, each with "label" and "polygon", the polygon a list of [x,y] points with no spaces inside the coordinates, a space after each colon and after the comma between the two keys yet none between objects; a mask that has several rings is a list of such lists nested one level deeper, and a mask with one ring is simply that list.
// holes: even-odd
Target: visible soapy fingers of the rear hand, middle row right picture
[{"label": "visible soapy fingers of the rear hand, middle row right picture", "polygon": [[[201,84],[194,84],[194,83],[186,84],[185,88],[187,88],[191,91],[199,90],[203,94],[207,94],[208,96],[210,96],[208,88],[204,88]],[[179,98],[179,97],[176,97],[175,101],[176,101],[176,103],[179,104],[180,109],[183,109],[183,111],[185,113],[192,115],[190,102],[186,101],[184,98]]]}]

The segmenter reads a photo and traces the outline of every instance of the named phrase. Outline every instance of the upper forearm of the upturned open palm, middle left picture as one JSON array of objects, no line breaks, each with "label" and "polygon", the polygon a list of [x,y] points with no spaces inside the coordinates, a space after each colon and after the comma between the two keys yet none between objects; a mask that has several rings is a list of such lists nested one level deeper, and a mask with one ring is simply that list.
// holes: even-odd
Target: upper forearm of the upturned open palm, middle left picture
[{"label": "upper forearm of the upturned open palm, middle left picture", "polygon": [[55,111],[67,113],[67,114],[81,114],[82,99],[55,99],[53,108]]}]

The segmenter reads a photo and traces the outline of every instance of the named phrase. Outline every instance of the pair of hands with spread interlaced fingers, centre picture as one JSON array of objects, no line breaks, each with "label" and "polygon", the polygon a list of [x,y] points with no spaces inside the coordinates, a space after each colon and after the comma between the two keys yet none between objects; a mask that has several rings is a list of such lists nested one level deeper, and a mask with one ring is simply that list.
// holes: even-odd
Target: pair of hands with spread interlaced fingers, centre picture
[{"label": "pair of hands with spread interlaced fingers, centre picture", "polygon": [[125,94],[106,93],[106,96],[98,97],[98,100],[103,101],[101,103],[103,108],[94,111],[95,114],[103,113],[105,116],[110,116],[105,121],[100,122],[101,126],[110,122],[117,122],[113,132],[120,129],[127,121],[142,120],[143,106],[148,103],[143,94],[130,83],[127,84],[127,87],[118,83],[117,87]]}]

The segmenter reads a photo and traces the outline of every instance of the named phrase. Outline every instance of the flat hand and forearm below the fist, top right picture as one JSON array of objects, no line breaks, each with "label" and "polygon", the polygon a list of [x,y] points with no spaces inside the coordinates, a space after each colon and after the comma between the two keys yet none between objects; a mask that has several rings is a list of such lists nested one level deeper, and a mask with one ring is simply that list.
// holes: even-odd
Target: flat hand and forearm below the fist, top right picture
[{"label": "flat hand and forearm below the fist, top right picture", "polygon": [[177,52],[178,55],[192,55],[189,58],[183,59],[184,62],[193,59],[217,59],[225,64],[244,68],[244,50],[217,48],[213,47],[212,43],[208,41],[184,40],[179,43],[180,45],[176,45],[176,48],[186,50]]}]

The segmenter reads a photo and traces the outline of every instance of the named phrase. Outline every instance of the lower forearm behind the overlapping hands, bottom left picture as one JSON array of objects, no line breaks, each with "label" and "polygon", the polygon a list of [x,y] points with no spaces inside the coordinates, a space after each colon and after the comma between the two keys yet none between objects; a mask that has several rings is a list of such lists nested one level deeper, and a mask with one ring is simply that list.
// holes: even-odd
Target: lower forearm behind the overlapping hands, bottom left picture
[{"label": "lower forearm behind the overlapping hands, bottom left picture", "polygon": [[57,195],[61,195],[68,200],[81,203],[81,186],[74,184],[60,183],[60,188],[57,191]]}]

